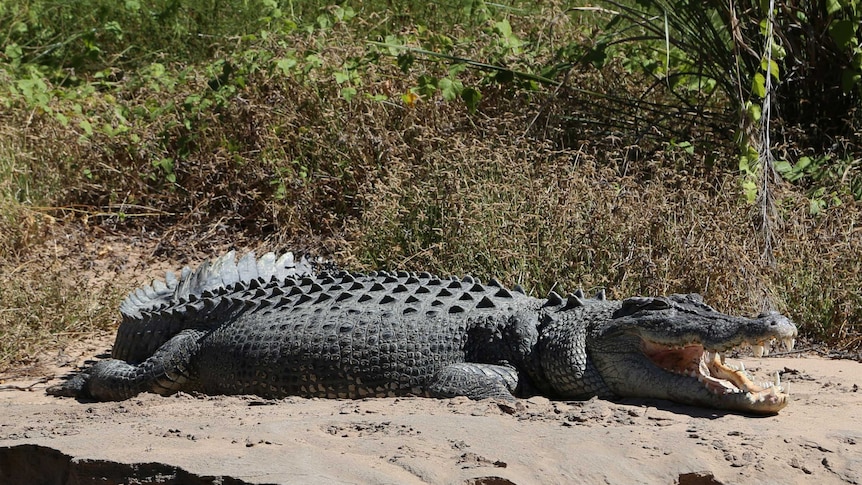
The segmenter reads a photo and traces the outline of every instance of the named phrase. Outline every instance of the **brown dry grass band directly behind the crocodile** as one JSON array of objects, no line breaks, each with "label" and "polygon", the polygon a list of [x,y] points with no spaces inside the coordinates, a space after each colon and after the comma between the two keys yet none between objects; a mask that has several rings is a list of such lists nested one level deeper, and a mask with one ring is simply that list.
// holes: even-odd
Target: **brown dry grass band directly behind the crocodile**
[{"label": "brown dry grass band directly behind the crocodile", "polygon": [[[291,41],[317,49],[325,66],[364,52],[344,39]],[[613,79],[620,89],[619,74],[571,82],[599,89]],[[655,139],[647,149],[634,135],[574,123],[595,108],[580,97],[506,86],[483,88],[475,115],[439,97],[407,105],[400,94],[415,74],[385,62],[366,68],[351,102],[328,72],[259,70],[222,105],[194,112],[187,100],[211,96],[208,81],[193,71],[171,89],[76,101],[99,123],[122,106],[132,128],[114,136],[82,137],[37,111],[0,115],[0,369],[111,329],[130,282],[155,275],[150,262],[194,263],[227,247],[496,276],[535,294],[698,291],[720,309],[775,307],[809,337],[860,346],[858,205],[812,217],[786,188],[769,267],[732,148],[709,133],[689,132],[694,155]],[[148,116],[155,104],[173,108]],[[708,164],[716,154],[727,161]],[[175,159],[176,184],[153,165],[164,157]]]}]

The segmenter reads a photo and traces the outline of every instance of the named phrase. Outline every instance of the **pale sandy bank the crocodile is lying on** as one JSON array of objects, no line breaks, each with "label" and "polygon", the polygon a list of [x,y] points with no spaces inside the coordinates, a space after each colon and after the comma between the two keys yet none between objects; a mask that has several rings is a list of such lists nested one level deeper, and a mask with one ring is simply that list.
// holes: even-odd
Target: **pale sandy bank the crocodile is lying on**
[{"label": "pale sandy bank the crocodile is lying on", "polygon": [[[104,345],[84,344],[77,362]],[[0,483],[862,483],[862,364],[744,361],[789,383],[777,416],[598,399],[82,403],[46,396],[56,380],[6,379]]]}]

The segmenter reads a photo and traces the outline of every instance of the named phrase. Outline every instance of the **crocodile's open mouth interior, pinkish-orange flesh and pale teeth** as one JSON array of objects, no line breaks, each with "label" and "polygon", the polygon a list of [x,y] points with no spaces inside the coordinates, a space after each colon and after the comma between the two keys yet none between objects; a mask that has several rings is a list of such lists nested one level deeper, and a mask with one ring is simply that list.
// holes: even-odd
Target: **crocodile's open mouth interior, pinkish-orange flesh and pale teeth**
[{"label": "crocodile's open mouth interior, pinkish-orange flesh and pale teeth", "polygon": [[[793,349],[793,339],[782,341],[788,350]],[[766,342],[752,345],[754,354],[762,357],[768,353]],[[778,372],[769,382],[755,383],[740,361],[739,365],[725,362],[726,351],[707,350],[701,344],[669,346],[643,341],[642,349],[655,365],[674,374],[695,378],[713,394],[724,396],[750,393],[753,402],[777,400],[785,393]]]}]

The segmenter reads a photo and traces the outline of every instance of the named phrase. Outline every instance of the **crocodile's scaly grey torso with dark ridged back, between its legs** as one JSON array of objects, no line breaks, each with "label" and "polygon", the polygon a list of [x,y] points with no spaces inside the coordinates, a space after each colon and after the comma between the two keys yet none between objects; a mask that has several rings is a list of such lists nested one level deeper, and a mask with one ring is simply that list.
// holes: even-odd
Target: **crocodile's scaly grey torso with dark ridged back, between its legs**
[{"label": "crocodile's scaly grey torso with dark ridged back, between its legs", "polygon": [[200,340],[208,394],[357,398],[423,394],[443,366],[516,366],[541,300],[496,281],[339,271],[263,285]]}]

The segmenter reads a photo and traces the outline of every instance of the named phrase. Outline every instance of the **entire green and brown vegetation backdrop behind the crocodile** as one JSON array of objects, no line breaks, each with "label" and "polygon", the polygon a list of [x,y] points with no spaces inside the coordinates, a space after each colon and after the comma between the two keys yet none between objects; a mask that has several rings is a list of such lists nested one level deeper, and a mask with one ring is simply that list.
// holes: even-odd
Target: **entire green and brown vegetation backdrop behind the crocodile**
[{"label": "entire green and brown vegetation backdrop behind the crocodile", "polygon": [[860,8],[3,2],[0,369],[228,248],[696,291],[858,355]]}]

